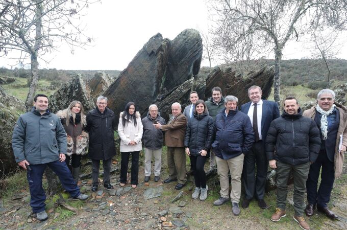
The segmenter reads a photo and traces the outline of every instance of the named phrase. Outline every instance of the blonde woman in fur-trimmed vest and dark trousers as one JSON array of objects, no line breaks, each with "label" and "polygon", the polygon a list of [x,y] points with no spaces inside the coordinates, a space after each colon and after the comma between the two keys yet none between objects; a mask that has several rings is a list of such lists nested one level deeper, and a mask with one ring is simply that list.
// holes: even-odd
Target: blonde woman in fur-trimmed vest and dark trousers
[{"label": "blonde woman in fur-trimmed vest and dark trousers", "polygon": [[[79,101],[72,101],[67,109],[57,112],[67,134],[67,151],[65,163],[72,166],[72,177],[76,183],[80,176],[81,157],[86,154],[89,135],[84,131],[87,124],[83,105]],[[70,167],[69,167],[70,168]]]}]

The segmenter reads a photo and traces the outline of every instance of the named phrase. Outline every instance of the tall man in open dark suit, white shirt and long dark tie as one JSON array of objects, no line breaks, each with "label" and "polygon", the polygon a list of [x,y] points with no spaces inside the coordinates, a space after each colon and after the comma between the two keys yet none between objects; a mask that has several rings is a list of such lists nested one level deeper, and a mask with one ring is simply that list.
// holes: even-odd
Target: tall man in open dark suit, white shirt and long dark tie
[{"label": "tall man in open dark suit, white shirt and long dark tie", "polygon": [[280,117],[280,111],[276,102],[262,100],[261,95],[261,88],[253,85],[248,89],[251,101],[241,105],[241,112],[246,113],[251,119],[256,137],[255,143],[250,152],[244,156],[243,161],[242,179],[245,189],[245,197],[241,203],[243,209],[248,208],[254,196],[258,199],[261,209],[267,207],[264,201],[267,175],[265,137],[271,121]]}]

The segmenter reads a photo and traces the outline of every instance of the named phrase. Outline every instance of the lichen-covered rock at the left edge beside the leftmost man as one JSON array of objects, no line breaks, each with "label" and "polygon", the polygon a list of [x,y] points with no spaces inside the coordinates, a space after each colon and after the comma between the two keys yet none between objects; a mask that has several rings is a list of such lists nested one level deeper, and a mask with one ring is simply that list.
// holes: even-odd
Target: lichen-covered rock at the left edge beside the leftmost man
[{"label": "lichen-covered rock at the left edge beside the leftmost man", "polygon": [[17,169],[12,150],[12,132],[18,117],[25,111],[24,103],[6,94],[0,86],[0,178]]}]

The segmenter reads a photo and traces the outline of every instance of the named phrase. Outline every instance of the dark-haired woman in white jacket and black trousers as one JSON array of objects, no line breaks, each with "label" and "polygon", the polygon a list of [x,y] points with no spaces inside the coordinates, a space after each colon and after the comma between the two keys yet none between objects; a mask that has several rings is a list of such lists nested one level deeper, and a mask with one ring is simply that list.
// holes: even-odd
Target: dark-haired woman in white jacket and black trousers
[{"label": "dark-haired woman in white jacket and black trousers", "polygon": [[139,153],[142,149],[143,126],[140,113],[136,111],[134,102],[128,102],[125,111],[120,113],[118,135],[120,137],[120,186],[127,183],[129,157],[131,154],[131,187],[137,186],[139,174]]}]

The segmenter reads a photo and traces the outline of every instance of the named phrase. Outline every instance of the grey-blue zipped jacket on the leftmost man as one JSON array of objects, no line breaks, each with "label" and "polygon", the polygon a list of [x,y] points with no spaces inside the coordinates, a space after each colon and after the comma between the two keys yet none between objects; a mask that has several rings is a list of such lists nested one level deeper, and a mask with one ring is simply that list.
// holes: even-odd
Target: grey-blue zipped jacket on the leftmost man
[{"label": "grey-blue zipped jacket on the leftmost man", "polygon": [[22,114],[13,130],[12,149],[16,162],[26,159],[31,165],[59,160],[66,153],[66,132],[60,119],[49,112],[42,116],[33,108]]}]

